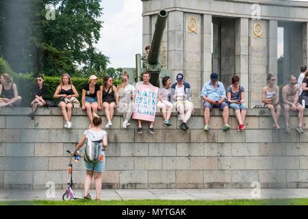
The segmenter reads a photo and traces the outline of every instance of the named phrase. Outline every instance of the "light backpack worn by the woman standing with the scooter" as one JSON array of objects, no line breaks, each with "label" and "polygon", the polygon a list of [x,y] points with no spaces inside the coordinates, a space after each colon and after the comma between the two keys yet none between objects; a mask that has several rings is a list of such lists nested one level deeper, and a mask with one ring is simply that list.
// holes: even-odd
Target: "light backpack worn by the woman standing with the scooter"
[{"label": "light backpack worn by the woman standing with the scooter", "polygon": [[[91,133],[88,131],[88,133]],[[91,133],[92,134],[92,133]],[[94,136],[92,134],[92,136]],[[102,148],[103,140],[91,141],[88,137],[84,143],[84,160],[86,162],[97,162]]]}]

